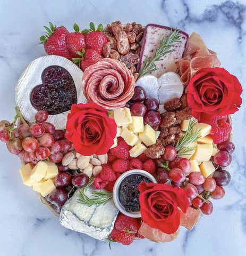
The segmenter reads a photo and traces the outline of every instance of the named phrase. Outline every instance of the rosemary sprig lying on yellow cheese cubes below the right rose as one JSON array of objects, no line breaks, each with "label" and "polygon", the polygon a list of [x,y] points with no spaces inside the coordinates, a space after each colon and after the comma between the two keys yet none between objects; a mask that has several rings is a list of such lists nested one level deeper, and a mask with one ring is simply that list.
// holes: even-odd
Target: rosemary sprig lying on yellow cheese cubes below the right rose
[{"label": "rosemary sprig lying on yellow cheese cubes below the right rose", "polygon": [[[185,155],[194,149],[192,147],[187,147],[187,146],[189,146],[192,142],[196,141],[199,138],[198,134],[200,130],[196,130],[196,131],[193,130],[193,127],[195,124],[196,124],[196,120],[191,121],[190,119],[188,129],[186,130],[183,137],[177,141],[177,144],[175,146],[177,155],[179,156],[181,154]],[[182,151],[180,152],[180,150]]]}]

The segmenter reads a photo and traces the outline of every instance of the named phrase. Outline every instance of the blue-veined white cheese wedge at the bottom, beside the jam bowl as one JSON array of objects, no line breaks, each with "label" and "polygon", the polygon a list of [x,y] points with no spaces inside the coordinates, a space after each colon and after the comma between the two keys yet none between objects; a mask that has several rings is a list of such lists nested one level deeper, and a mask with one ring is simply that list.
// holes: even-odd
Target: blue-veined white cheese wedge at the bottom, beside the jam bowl
[{"label": "blue-veined white cheese wedge at the bottom, beside the jam bowl", "polygon": [[[88,193],[89,191],[90,189]],[[104,241],[113,230],[118,214],[113,199],[105,204],[87,206],[78,202],[79,195],[80,191],[77,189],[63,205],[60,213],[61,225]]]}]

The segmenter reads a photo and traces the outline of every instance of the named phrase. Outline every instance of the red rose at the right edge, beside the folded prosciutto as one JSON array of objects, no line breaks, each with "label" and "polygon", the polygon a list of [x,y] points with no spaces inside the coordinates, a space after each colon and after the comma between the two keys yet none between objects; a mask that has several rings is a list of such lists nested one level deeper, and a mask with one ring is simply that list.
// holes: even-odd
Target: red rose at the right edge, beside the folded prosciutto
[{"label": "red rose at the right edge, beside the folded prosciutto", "polygon": [[187,101],[192,116],[209,122],[213,116],[235,113],[242,103],[242,86],[224,68],[202,68],[188,84]]}]

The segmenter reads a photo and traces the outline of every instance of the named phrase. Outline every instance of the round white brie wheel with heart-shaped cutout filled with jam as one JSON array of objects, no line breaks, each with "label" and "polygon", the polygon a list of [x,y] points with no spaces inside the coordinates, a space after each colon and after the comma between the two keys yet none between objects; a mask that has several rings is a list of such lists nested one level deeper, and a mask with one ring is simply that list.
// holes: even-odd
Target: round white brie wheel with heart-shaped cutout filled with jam
[{"label": "round white brie wheel with heart-shaped cutout filled with jam", "polygon": [[[59,77],[56,77],[57,72],[48,74],[48,71],[45,71],[46,73],[44,73],[46,68],[52,66],[58,66],[64,71],[62,74],[63,80],[59,80]],[[43,86],[43,88],[40,88],[40,92],[43,93],[43,95],[39,95],[40,99],[37,99],[37,103],[38,101],[44,101],[47,102],[47,105],[53,108],[56,105],[56,111],[58,111],[58,113],[49,114],[47,122],[53,123],[57,130],[65,129],[66,118],[71,104],[69,105],[69,103],[67,103],[69,102],[69,94],[64,90],[62,91],[61,88],[63,86],[66,90],[68,81],[70,81],[72,91],[71,97],[73,97],[70,97],[71,102],[73,100],[73,103],[86,103],[87,99],[82,92],[82,76],[83,71],[80,68],[78,68],[72,61],[61,56],[47,55],[33,60],[23,71],[15,86],[16,104],[24,119],[30,123],[35,122],[35,114],[40,109],[33,107],[31,95],[33,95],[32,92],[33,90],[36,90],[37,86]],[[47,84],[43,81],[43,78],[45,79],[46,77],[49,79],[49,83]],[[67,84],[60,84],[63,83],[62,81],[65,81]],[[59,95],[61,94],[63,94],[63,98],[59,98]],[[63,108],[63,105],[66,105],[66,111],[60,111]],[[42,109],[47,110],[45,107]]]}]

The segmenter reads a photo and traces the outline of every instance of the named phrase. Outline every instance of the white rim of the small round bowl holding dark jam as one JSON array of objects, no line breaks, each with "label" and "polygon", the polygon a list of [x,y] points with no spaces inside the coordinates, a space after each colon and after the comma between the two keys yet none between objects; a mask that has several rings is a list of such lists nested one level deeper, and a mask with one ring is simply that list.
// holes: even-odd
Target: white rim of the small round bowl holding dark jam
[{"label": "white rim of the small round bowl holding dark jam", "polygon": [[151,182],[157,183],[156,179],[148,172],[143,171],[143,170],[139,170],[139,169],[134,169],[131,171],[127,171],[124,172],[122,175],[120,175],[120,177],[116,180],[114,188],[113,188],[113,200],[114,200],[114,204],[117,207],[117,209],[122,212],[123,214],[125,214],[126,216],[132,217],[132,218],[140,218],[141,217],[141,213],[139,212],[127,212],[124,208],[124,206],[121,204],[120,199],[119,199],[119,193],[120,193],[120,185],[122,180],[125,177],[128,177],[129,175],[132,174],[140,174],[143,175],[147,178],[150,179]]}]

